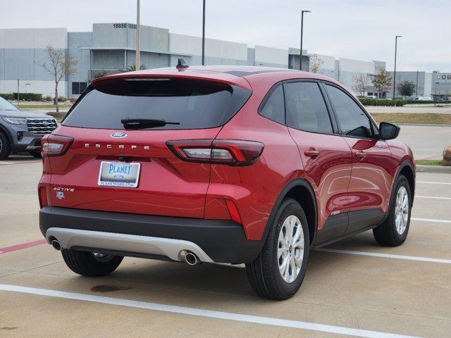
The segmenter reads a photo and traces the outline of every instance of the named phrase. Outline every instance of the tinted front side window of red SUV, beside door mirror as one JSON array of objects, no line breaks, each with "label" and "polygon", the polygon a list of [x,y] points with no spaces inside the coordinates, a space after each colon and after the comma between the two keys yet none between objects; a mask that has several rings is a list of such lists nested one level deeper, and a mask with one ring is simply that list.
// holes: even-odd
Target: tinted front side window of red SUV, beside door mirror
[{"label": "tinted front side window of red SUV, beside door mirror", "polygon": [[348,94],[337,87],[326,84],[326,89],[342,134],[354,137],[371,137],[373,135],[371,123],[362,108]]}]

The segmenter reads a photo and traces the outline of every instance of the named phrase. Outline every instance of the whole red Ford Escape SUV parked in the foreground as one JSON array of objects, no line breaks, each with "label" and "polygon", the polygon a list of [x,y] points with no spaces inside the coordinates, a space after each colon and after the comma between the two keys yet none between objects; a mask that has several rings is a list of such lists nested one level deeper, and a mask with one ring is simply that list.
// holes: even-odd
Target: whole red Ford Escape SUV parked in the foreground
[{"label": "whole red Ford Escape SUV parked in the foreground", "polygon": [[123,256],[245,263],[299,289],[309,250],[409,231],[412,151],[335,80],[277,68],[142,70],[92,82],[42,140],[39,223],[75,273]]}]

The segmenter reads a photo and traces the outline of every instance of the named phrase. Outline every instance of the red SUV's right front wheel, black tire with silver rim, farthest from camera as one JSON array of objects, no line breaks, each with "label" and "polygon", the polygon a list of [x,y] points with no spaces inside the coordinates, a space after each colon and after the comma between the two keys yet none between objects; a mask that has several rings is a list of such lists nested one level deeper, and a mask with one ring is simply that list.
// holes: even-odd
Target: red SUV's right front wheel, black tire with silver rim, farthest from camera
[{"label": "red SUV's right front wheel, black tire with silver rim, farthest from camera", "polygon": [[[373,229],[373,235],[378,244],[383,246],[398,246],[404,243],[409,233],[410,214],[412,212],[412,196],[406,177],[400,175],[393,184],[393,196],[390,201],[390,211],[385,221]],[[407,204],[403,204],[398,196],[407,196]],[[400,203],[401,208],[398,208]],[[408,209],[406,209],[406,206]],[[399,211],[399,212],[398,212]],[[400,215],[397,223],[397,213]]]}]

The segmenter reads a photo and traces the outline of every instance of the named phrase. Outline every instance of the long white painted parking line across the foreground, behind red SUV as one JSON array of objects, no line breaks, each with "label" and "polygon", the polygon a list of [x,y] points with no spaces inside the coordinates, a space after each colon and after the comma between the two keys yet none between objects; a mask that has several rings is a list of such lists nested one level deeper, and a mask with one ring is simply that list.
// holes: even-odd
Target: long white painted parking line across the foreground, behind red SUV
[{"label": "long white painted parking line across the foreground, behind red SUV", "polygon": [[285,320],[271,317],[260,317],[257,315],[242,315],[240,313],[230,313],[222,311],[210,311],[202,308],[187,308],[185,306],[172,306],[144,301],[132,301],[129,299],[118,299],[105,296],[93,296],[90,294],[77,294],[75,292],[62,292],[57,290],[36,289],[34,287],[18,287],[16,285],[0,284],[0,290],[10,292],[22,292],[25,294],[38,294],[41,296],[51,296],[63,299],[75,299],[78,301],[92,301],[118,306],[128,306],[130,308],[144,308],[147,310],[164,311],[170,313],[180,313],[183,315],[196,315],[199,317],[216,318],[223,320],[235,320],[245,323],[256,323],[263,325],[275,325],[281,327],[292,327],[295,329],[312,330],[319,332],[329,332],[335,334],[347,334],[348,336],[368,337],[368,338],[412,338],[402,334],[391,334],[378,331],[353,329],[334,325],[323,325],[299,320]]}]

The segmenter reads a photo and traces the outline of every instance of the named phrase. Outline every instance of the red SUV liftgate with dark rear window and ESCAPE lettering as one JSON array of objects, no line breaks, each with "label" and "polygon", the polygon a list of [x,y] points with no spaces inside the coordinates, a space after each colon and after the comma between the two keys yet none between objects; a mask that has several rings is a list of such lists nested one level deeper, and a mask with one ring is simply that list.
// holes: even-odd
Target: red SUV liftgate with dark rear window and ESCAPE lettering
[{"label": "red SUV liftgate with dark rear window and ESCAPE lettering", "polygon": [[[166,142],[214,139],[249,95],[229,84],[175,78],[121,78],[90,87],[54,132],[73,143],[63,156],[49,158],[52,204],[204,217],[209,163],[182,161]],[[123,119],[178,124],[130,130]],[[135,178],[136,184],[124,184]]]}]

